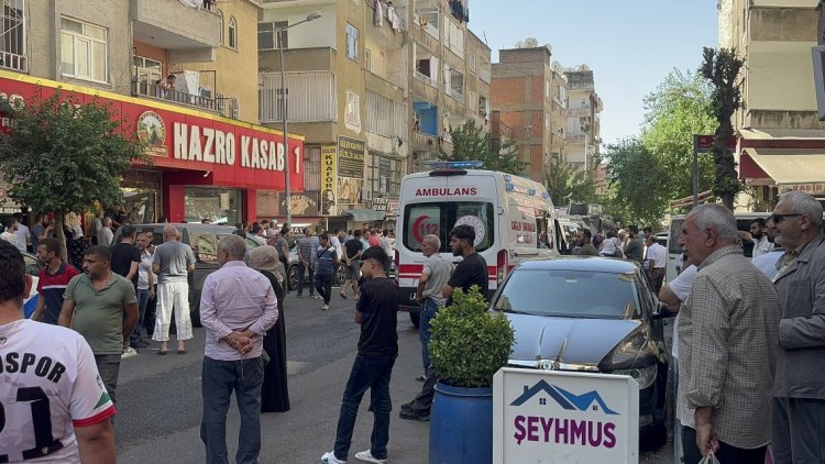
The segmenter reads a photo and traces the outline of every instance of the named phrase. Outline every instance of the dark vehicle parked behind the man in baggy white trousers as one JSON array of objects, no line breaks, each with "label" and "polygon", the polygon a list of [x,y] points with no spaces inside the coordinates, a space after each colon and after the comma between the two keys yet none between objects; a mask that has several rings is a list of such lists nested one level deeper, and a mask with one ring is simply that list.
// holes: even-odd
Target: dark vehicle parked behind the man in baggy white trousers
[{"label": "dark vehicle parked behind the man in baggy white trousers", "polygon": [[[195,272],[189,273],[189,313],[191,314],[193,324],[200,327],[200,292],[204,289],[206,277],[217,270],[218,264],[218,243],[235,230],[229,225],[198,224],[198,223],[153,223],[153,224],[134,224],[138,232],[151,228],[154,232],[154,244],[163,243],[163,228],[174,225],[180,231],[183,243],[191,246],[195,253]],[[121,229],[114,234],[114,243],[121,241]],[[246,239],[248,246],[258,246],[258,243],[252,239]]]}]

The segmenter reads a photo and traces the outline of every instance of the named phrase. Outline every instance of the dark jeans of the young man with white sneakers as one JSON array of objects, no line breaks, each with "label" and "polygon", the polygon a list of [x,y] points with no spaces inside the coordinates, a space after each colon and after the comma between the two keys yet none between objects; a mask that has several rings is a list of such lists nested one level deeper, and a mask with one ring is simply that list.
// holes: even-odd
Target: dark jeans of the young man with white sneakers
[{"label": "dark jeans of the young man with white sneakers", "polygon": [[389,442],[389,411],[393,404],[389,399],[389,377],[397,353],[369,355],[358,354],[352,364],[350,379],[346,380],[343,399],[341,400],[341,415],[338,418],[338,431],[336,432],[336,457],[346,461],[352,443],[352,431],[355,428],[355,419],[359,413],[361,399],[366,389],[370,389],[370,410],[375,416],[373,433],[370,439],[372,446],[370,452],[377,460],[387,459],[387,442]]}]

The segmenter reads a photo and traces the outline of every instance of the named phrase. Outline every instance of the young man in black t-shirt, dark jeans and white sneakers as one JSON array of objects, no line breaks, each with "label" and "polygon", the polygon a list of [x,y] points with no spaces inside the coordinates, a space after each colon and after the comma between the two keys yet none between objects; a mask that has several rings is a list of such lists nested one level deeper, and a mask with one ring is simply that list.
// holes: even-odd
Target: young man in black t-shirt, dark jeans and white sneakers
[{"label": "young man in black t-shirt, dark jeans and white sneakers", "polygon": [[359,353],[352,365],[350,379],[341,400],[338,418],[336,448],[324,453],[326,464],[345,463],[350,453],[352,431],[355,427],[361,399],[371,389],[371,409],[375,415],[370,450],[355,454],[366,462],[384,462],[389,441],[389,377],[398,356],[398,286],[386,276],[389,256],[381,246],[373,246],[361,254],[361,272],[366,278],[361,287],[355,309],[355,323],[361,324]]}]

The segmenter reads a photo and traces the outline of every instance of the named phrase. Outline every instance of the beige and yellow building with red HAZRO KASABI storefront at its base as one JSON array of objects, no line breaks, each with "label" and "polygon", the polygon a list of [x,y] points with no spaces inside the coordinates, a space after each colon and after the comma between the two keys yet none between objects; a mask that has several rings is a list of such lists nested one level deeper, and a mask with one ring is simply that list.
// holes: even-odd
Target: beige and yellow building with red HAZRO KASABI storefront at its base
[{"label": "beige and yellow building with red HAZRO KASABI storefront at its base", "polygon": [[[257,0],[2,4],[6,96],[96,99],[150,144],[152,165],[121,183],[142,222],[256,220],[258,191],[284,188],[283,136],[254,125]],[[300,137],[290,145],[302,154]]]}]

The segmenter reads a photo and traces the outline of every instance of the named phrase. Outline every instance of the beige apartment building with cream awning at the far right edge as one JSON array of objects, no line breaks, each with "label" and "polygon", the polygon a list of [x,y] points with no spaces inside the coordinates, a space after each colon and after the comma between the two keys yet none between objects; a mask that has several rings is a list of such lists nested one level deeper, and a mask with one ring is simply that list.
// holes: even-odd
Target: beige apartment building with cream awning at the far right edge
[{"label": "beige apartment building with cream awning at the far right edge", "polygon": [[[743,109],[734,117],[739,177],[752,189],[738,208],[771,211],[779,194],[825,202],[825,126],[818,120],[811,47],[816,0],[722,0],[719,46],[744,59]],[[752,194],[752,195],[751,195]]]}]

